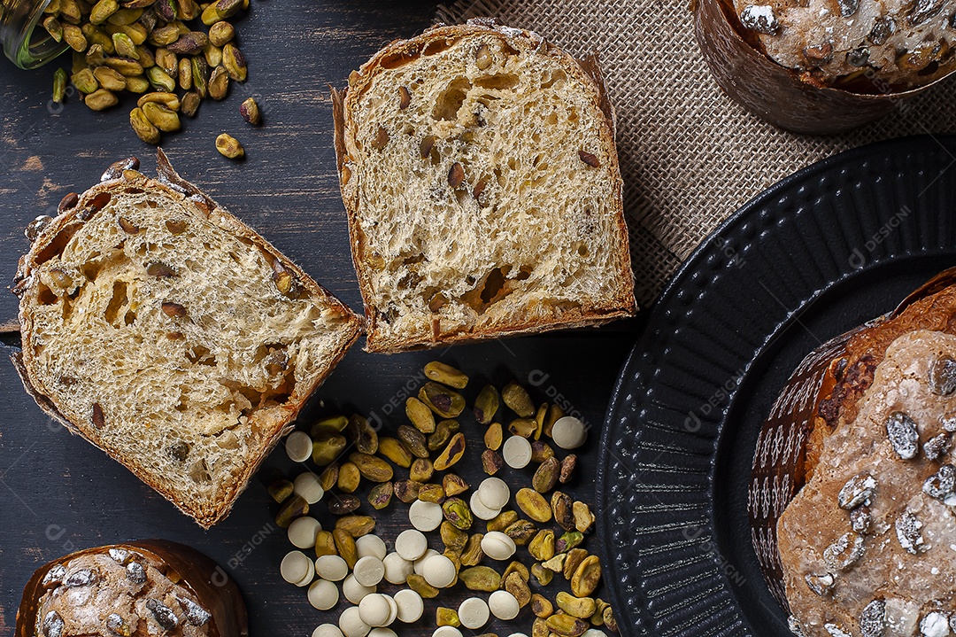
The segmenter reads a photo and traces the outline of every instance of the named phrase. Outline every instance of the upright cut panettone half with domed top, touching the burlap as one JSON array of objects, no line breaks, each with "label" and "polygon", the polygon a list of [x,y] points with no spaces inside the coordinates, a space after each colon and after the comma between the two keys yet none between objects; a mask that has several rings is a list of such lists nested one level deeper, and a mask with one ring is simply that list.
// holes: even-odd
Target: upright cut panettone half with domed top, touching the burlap
[{"label": "upright cut panettone half with domed top, touching the burlap", "polygon": [[591,77],[516,29],[441,28],[392,49],[353,74],[343,106],[369,349],[631,314],[617,154]]}]

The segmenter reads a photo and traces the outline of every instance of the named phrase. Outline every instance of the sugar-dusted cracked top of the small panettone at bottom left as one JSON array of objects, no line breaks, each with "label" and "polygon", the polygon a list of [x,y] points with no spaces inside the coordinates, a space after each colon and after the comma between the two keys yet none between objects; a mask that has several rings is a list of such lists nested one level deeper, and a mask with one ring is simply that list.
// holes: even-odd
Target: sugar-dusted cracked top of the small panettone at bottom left
[{"label": "sugar-dusted cracked top of the small panettone at bottom left", "polygon": [[[91,553],[65,562],[62,578],[47,583],[47,590],[37,603],[33,634],[53,634],[55,629],[51,627],[59,623],[62,623],[59,634],[64,637],[116,637],[124,628],[137,635],[202,637],[217,634],[208,609],[177,582],[179,576],[170,571],[167,564],[135,551],[123,553],[122,561],[107,553]],[[127,567],[131,563],[141,565],[143,578],[128,575]],[[89,583],[76,585],[77,574]],[[149,606],[158,608],[159,617]],[[160,620],[167,622],[167,627],[162,626]],[[175,627],[170,630],[168,626],[172,626],[173,621]]]}]

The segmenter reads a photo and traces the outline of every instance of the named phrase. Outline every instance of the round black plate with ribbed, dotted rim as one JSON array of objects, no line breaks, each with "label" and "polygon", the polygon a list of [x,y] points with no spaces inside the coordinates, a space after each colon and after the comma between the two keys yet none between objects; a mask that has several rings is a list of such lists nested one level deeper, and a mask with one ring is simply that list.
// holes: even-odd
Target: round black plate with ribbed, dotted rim
[{"label": "round black plate with ribbed, dotted rim", "polygon": [[788,635],[750,544],[747,487],[777,392],[817,344],[956,265],[956,137],[879,143],[771,187],[650,310],[597,476],[625,635]]}]

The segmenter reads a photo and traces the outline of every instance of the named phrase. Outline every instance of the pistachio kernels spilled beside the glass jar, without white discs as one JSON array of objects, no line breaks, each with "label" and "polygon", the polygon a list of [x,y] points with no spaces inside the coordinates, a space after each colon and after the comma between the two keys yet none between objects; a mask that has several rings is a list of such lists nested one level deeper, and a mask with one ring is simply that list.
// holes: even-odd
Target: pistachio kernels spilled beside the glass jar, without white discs
[{"label": "pistachio kernels spilled beside the glass jar, without white discs", "polygon": [[[101,111],[120,103],[118,94],[124,91],[140,95],[130,125],[143,142],[159,143],[161,133],[180,129],[180,115],[195,116],[203,99],[225,99],[230,80],[246,81],[246,58],[235,46],[228,19],[249,4],[51,0],[41,24],[73,50],[69,81],[83,103]],[[66,96],[67,81],[66,71],[58,69],[55,102]],[[244,102],[240,112],[246,121],[259,123],[254,100]],[[235,149],[229,152],[240,156]]]}]

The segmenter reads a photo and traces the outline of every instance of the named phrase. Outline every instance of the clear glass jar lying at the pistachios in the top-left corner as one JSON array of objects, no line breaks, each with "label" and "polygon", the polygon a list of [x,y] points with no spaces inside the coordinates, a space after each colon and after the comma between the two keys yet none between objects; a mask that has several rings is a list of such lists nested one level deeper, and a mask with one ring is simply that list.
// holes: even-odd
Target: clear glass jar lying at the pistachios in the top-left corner
[{"label": "clear glass jar lying at the pistachios in the top-left corner", "polygon": [[0,41],[21,69],[35,69],[66,51],[43,27],[37,28],[50,0],[0,0]]}]

